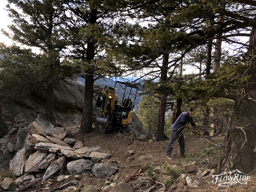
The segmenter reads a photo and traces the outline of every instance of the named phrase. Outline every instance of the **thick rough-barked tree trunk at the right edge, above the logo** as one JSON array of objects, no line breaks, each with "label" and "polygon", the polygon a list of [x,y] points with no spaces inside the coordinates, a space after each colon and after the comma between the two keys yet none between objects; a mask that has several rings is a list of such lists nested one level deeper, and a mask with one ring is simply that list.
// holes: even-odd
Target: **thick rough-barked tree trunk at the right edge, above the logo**
[{"label": "thick rough-barked tree trunk at the right edge, above the logo", "polygon": [[[252,28],[249,40],[248,59],[252,59],[256,55],[256,27]],[[252,64],[252,62],[254,62]],[[242,172],[252,171],[256,164],[256,130],[255,130],[255,114],[256,114],[256,63],[255,59],[246,74],[247,82],[244,87],[239,90],[240,99],[234,104],[234,113],[231,120],[231,126],[238,129],[229,131],[225,137],[223,144],[227,145],[220,155],[218,173],[223,171],[238,169]]]}]

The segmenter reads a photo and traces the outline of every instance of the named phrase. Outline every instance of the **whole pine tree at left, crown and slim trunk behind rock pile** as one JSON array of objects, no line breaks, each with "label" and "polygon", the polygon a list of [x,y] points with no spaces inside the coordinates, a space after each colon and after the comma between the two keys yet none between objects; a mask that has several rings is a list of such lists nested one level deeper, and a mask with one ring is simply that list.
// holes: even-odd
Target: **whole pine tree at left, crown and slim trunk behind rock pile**
[{"label": "whole pine tree at left, crown and slim trunk behind rock pile", "polygon": [[[53,108],[53,88],[57,79],[67,77],[69,70],[60,62],[60,51],[67,44],[63,36],[66,24],[66,8],[59,0],[21,1],[9,0],[6,6],[13,24],[11,33],[4,32],[15,42],[37,47],[41,54],[31,63],[31,70],[47,83],[46,117],[56,126]],[[14,4],[16,9],[13,9]]]}]

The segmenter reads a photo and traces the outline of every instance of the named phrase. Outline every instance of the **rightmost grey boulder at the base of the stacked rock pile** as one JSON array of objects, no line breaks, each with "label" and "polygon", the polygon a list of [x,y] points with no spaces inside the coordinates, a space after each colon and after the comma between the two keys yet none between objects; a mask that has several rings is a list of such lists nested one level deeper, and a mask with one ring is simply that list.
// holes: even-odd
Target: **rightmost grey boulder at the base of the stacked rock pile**
[{"label": "rightmost grey boulder at the base of the stacked rock pile", "polygon": [[97,178],[107,178],[112,176],[118,167],[115,163],[96,163],[92,166],[92,173]]}]

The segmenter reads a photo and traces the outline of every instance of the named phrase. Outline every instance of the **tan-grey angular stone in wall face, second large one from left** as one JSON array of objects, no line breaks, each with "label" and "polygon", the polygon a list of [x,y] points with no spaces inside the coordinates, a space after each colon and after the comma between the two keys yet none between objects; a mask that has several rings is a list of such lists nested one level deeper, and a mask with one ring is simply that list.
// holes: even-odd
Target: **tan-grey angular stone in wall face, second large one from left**
[{"label": "tan-grey angular stone in wall face, second large one from left", "polygon": [[28,157],[25,165],[25,172],[40,172],[38,166],[47,157],[47,153],[37,151]]}]

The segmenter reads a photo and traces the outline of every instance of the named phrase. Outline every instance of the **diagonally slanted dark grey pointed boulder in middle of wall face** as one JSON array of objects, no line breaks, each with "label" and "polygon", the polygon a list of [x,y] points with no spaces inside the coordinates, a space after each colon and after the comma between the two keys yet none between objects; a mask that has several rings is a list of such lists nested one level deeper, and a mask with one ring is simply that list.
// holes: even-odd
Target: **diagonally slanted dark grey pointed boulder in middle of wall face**
[{"label": "diagonally slanted dark grey pointed boulder in middle of wall face", "polygon": [[60,157],[55,161],[53,161],[50,164],[50,166],[47,168],[42,181],[46,181],[48,179],[53,178],[56,175],[63,174],[65,172],[66,162],[67,162],[66,156]]}]

